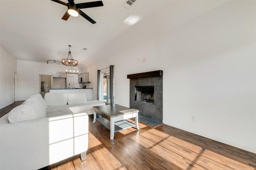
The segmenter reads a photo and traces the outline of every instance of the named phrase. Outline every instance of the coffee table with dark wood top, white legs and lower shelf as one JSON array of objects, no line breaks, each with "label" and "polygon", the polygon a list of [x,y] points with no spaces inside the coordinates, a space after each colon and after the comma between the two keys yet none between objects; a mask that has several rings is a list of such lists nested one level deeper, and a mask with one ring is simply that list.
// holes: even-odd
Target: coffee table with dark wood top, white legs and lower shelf
[{"label": "coffee table with dark wood top, white legs and lower shelf", "polygon": [[[110,139],[114,139],[114,133],[136,126],[138,130],[138,112],[137,109],[131,109],[129,107],[120,106],[118,104],[94,106],[94,118],[93,123],[96,120],[110,130]],[[97,118],[97,114],[102,117]],[[110,117],[110,121],[105,117]],[[135,118],[135,124],[127,121],[126,119]]]}]

